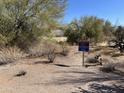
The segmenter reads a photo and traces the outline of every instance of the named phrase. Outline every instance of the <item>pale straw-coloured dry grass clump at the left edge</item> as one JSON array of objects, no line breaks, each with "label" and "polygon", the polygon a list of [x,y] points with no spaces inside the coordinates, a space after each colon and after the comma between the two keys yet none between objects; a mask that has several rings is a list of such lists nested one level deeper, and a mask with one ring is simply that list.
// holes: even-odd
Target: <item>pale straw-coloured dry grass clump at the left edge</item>
[{"label": "pale straw-coloured dry grass clump at the left edge", "polygon": [[0,64],[12,63],[27,55],[17,47],[5,47],[0,49]]}]

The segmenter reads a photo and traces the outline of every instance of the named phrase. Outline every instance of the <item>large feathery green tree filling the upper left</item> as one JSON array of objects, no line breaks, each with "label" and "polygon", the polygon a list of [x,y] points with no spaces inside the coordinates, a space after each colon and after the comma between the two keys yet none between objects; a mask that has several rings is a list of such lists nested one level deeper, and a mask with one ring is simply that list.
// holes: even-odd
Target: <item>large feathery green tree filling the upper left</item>
[{"label": "large feathery green tree filling the upper left", "polygon": [[66,0],[1,1],[0,36],[6,45],[24,49],[55,27],[66,6]]}]

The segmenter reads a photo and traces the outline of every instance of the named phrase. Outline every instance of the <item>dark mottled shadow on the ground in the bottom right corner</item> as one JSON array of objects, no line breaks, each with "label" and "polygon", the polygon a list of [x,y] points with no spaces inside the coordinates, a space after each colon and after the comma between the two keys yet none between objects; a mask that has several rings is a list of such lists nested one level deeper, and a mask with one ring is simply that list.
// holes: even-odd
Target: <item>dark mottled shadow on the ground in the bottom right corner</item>
[{"label": "dark mottled shadow on the ground in the bottom right corner", "polygon": [[88,85],[88,90],[78,87],[77,92],[72,93],[124,93],[124,87],[121,85],[103,85],[99,83],[92,83]]}]

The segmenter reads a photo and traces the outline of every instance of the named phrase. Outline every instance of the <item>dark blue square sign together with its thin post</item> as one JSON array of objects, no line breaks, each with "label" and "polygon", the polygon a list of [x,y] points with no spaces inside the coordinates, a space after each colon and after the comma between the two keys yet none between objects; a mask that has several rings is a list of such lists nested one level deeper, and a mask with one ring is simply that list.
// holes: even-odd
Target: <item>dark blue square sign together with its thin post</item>
[{"label": "dark blue square sign together with its thin post", "polygon": [[89,52],[89,42],[88,41],[79,42],[78,50],[82,52],[82,66],[84,66],[84,52]]}]

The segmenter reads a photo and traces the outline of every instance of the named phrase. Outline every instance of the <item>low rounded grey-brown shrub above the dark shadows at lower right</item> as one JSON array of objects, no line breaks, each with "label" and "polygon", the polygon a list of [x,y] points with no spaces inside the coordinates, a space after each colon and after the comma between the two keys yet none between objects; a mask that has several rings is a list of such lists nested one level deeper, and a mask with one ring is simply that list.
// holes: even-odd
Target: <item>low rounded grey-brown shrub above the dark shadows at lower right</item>
[{"label": "low rounded grey-brown shrub above the dark shadows at lower right", "polygon": [[115,64],[113,63],[105,64],[103,67],[100,68],[100,71],[107,73],[113,72],[115,71]]}]

